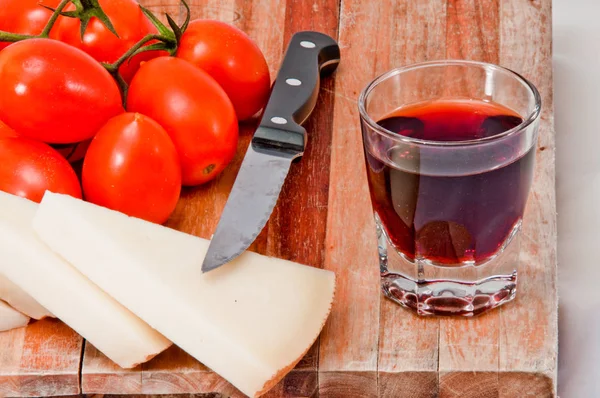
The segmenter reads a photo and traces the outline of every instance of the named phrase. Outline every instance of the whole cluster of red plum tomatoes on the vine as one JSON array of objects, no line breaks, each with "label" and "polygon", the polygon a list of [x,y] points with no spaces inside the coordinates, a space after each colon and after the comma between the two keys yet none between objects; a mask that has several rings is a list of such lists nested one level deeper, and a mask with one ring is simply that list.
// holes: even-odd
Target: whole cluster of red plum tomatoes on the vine
[{"label": "whole cluster of red plum tomatoes on the vine", "polygon": [[[269,69],[229,24],[171,24],[170,42],[135,0],[98,5],[107,19],[81,2],[0,0],[0,190],[34,201],[50,190],[163,223],[182,185],[231,162],[238,121],[267,102]],[[43,6],[58,7],[55,18]],[[8,32],[15,43],[1,42]]]}]

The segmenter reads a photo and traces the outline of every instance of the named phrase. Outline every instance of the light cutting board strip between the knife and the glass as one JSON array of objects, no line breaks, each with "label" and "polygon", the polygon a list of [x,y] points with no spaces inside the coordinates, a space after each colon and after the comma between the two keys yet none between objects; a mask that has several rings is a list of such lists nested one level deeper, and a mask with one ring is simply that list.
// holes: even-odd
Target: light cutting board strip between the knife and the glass
[{"label": "light cutting board strip between the knife and the glass", "polygon": [[[358,10],[362,4],[364,12]],[[373,72],[374,59],[361,51],[374,44],[361,27],[371,23],[378,2],[344,0],[339,44],[327,217],[325,268],[338,276],[332,313],[321,334],[320,395],[362,397],[377,393],[379,274],[370,212],[356,95]],[[355,46],[349,43],[356,43]],[[348,214],[351,214],[351,222]]]}]

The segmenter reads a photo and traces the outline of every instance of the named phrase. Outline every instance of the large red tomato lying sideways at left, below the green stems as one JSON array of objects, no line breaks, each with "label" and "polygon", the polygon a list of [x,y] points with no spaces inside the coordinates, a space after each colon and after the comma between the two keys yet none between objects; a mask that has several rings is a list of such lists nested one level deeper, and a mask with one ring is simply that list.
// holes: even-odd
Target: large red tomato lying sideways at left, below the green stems
[{"label": "large red tomato lying sideways at left, below the green stems", "polygon": [[84,141],[122,112],[115,81],[83,51],[30,39],[0,52],[0,120],[24,137]]}]

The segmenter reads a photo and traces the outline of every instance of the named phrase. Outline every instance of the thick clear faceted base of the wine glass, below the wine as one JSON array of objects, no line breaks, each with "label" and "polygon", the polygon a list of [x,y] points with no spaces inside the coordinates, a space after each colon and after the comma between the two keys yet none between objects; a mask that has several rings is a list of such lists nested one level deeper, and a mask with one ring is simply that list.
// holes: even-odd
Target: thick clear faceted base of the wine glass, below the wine
[{"label": "thick clear faceted base of the wine glass, below the wine", "polygon": [[485,263],[438,266],[396,252],[377,215],[375,221],[381,288],[396,303],[419,315],[474,316],[515,298],[520,222],[498,253]]}]

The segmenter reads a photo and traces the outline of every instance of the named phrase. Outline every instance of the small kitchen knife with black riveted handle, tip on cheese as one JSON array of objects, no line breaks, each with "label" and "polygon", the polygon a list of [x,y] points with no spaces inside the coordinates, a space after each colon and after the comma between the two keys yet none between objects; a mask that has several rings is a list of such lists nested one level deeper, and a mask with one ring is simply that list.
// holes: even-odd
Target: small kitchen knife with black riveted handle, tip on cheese
[{"label": "small kitchen knife with black riveted handle, tip on cheese", "polygon": [[339,62],[340,49],[331,37],[311,31],[292,37],[202,272],[240,255],[269,220],[292,161],[304,153],[307,137],[301,124],[315,107],[320,77],[332,73]]}]

